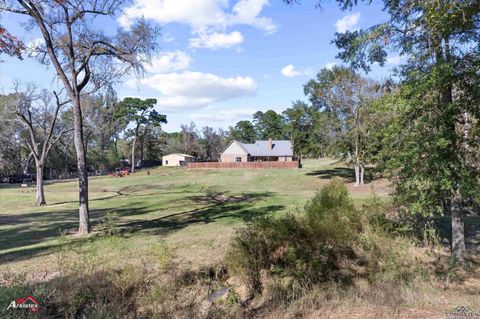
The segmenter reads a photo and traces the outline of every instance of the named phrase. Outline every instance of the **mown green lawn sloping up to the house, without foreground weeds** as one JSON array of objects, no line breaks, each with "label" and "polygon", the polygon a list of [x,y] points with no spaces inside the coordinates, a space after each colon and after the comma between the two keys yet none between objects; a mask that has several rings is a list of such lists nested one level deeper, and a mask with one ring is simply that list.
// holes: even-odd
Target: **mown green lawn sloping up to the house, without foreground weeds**
[{"label": "mown green lawn sloping up to the house, without foreground weeds", "polygon": [[[118,213],[129,258],[148,254],[152,243],[165,241],[182,263],[219,261],[235,229],[264,214],[283,214],[303,206],[329,179],[352,178],[352,171],[333,160],[306,160],[302,169],[187,170],[157,168],[126,178],[90,178],[94,233],[107,212]],[[377,182],[375,182],[377,183]],[[375,184],[372,183],[372,184]],[[375,190],[382,190],[384,182]],[[348,185],[363,199],[371,185]],[[384,191],[385,193],[385,191]],[[382,194],[382,193],[381,193]],[[386,194],[386,193],[385,193]],[[74,241],[98,249],[94,240],[77,238],[77,182],[47,183],[47,206],[33,207],[34,188],[0,186],[0,271],[43,271],[53,253]],[[61,240],[65,233],[66,240]]]}]

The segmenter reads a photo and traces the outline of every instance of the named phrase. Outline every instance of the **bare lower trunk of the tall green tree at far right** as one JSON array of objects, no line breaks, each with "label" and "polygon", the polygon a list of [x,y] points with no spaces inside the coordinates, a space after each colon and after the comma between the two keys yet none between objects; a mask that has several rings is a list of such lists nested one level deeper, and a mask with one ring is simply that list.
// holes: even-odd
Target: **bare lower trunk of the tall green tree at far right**
[{"label": "bare lower trunk of the tall green tree at far right", "polygon": [[452,196],[450,209],[452,215],[452,256],[463,264],[465,261],[465,225],[458,190]]}]

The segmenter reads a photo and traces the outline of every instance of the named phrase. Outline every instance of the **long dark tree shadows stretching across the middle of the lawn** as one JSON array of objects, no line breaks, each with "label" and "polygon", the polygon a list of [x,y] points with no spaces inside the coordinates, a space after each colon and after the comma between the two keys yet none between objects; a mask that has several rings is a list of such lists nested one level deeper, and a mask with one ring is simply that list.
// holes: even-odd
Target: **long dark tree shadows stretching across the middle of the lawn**
[{"label": "long dark tree shadows stretching across the middle of the lawn", "polygon": [[[173,193],[178,190],[170,188]],[[186,189],[184,189],[185,191]],[[190,192],[179,192],[187,194]],[[130,201],[127,206],[118,207],[115,200],[107,208],[92,209],[91,223],[98,228],[99,221],[109,211],[117,212],[118,226],[127,234],[144,232],[148,234],[166,235],[181,230],[189,225],[207,224],[212,222],[233,223],[248,221],[256,216],[283,209],[280,205],[262,206],[261,201],[272,196],[273,193],[244,193],[231,195],[222,192],[204,191],[197,195],[182,197],[177,200],[175,207],[158,208],[156,205],[146,205],[139,197]],[[198,206],[195,209],[181,210],[181,207]],[[187,207],[188,207],[187,206]],[[162,210],[180,210],[149,219],[148,214],[159,213]],[[43,210],[35,213],[19,213],[18,215],[0,215],[0,262],[25,260],[34,256],[48,253],[58,246],[58,242],[51,245],[41,245],[48,240],[58,238],[63,231],[74,233],[78,227],[78,210],[64,211]],[[157,216],[157,215],[156,215]],[[128,217],[125,219],[123,217]],[[132,220],[132,217],[136,220]],[[7,225],[5,227],[5,225]],[[97,227],[95,227],[97,226]],[[37,247],[28,247],[39,245]],[[6,251],[13,250],[13,251]]]}]

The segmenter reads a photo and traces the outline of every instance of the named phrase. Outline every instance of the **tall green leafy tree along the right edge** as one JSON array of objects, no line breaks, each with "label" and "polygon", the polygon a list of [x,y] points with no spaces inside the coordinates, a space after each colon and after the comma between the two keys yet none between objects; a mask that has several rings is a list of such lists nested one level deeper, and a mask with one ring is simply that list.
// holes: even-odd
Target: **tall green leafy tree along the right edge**
[{"label": "tall green leafy tree along the right edge", "polygon": [[[337,2],[347,9],[360,1]],[[385,22],[337,34],[338,57],[364,70],[375,62],[383,65],[392,51],[408,57],[401,66],[407,106],[402,121],[405,141],[399,145],[412,146],[408,141],[416,139],[416,147],[400,153],[397,163],[404,166],[399,166],[399,182],[408,187],[397,191],[408,195],[413,211],[450,214],[452,255],[463,263],[463,216],[480,186],[474,138],[480,113],[476,71],[480,64],[480,3],[383,3],[388,13]]]}]

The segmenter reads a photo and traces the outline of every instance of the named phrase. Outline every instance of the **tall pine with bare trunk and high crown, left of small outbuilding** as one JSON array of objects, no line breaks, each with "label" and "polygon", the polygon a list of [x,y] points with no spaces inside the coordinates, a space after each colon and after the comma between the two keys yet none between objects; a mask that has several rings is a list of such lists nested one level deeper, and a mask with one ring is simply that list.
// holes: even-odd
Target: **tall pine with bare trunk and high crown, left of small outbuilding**
[{"label": "tall pine with bare trunk and high crown, left of small outbuilding", "polygon": [[126,97],[120,102],[117,117],[123,117],[134,125],[132,130],[132,173],[135,173],[135,151],[137,139],[140,136],[140,129],[145,130],[147,126],[158,127],[161,124],[167,123],[167,116],[159,114],[155,110],[156,104],[156,99],[142,100],[133,97]]}]

